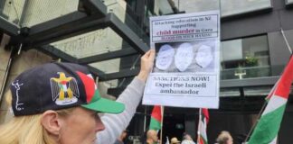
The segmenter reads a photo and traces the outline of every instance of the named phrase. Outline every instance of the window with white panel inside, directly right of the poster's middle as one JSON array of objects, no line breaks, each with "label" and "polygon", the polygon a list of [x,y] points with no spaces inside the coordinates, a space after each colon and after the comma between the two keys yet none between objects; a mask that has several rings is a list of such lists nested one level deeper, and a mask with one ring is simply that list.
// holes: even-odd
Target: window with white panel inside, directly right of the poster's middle
[{"label": "window with white panel inside, directly right of the poster's middle", "polygon": [[267,36],[221,43],[222,79],[270,76]]}]

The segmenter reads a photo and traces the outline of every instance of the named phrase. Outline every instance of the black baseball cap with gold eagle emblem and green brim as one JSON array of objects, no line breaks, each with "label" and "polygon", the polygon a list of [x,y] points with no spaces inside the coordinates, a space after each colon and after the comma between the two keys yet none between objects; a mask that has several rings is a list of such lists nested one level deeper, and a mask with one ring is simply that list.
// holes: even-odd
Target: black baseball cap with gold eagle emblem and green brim
[{"label": "black baseball cap with gold eagle emblem and green brim", "polygon": [[99,94],[87,67],[48,63],[17,76],[10,85],[14,116],[81,106],[95,112],[119,113],[125,105]]}]

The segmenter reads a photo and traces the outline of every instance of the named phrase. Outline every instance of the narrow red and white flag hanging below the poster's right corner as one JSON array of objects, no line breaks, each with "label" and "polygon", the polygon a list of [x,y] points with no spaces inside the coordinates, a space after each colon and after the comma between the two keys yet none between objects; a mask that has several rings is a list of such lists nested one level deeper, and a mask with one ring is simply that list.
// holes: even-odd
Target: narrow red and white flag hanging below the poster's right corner
[{"label": "narrow red and white flag hanging below the poster's right corner", "polygon": [[209,111],[208,109],[200,109],[200,114],[202,114],[201,116],[201,120],[198,123],[198,131],[199,131],[199,136],[198,136],[198,144],[207,144],[208,140],[207,140],[207,135],[206,135],[206,127],[207,124],[209,122]]}]

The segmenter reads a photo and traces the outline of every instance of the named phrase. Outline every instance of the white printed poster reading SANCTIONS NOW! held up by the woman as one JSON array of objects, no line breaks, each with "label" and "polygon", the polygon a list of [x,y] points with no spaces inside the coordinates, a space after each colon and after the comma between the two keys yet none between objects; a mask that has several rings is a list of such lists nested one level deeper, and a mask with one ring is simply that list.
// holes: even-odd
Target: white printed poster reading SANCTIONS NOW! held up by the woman
[{"label": "white printed poster reading SANCTIONS NOW! held up by the woman", "polygon": [[143,104],[219,107],[219,11],[150,17],[150,42],[156,59]]}]

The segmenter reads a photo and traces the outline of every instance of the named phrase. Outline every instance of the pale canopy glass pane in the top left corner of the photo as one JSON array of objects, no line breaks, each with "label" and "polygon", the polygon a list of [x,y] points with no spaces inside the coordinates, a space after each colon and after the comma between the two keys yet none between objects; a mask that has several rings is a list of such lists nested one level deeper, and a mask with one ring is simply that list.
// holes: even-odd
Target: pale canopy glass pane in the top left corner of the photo
[{"label": "pale canopy glass pane in the top left corner of the photo", "polygon": [[79,0],[0,0],[0,16],[22,27],[31,27],[77,11]]}]

